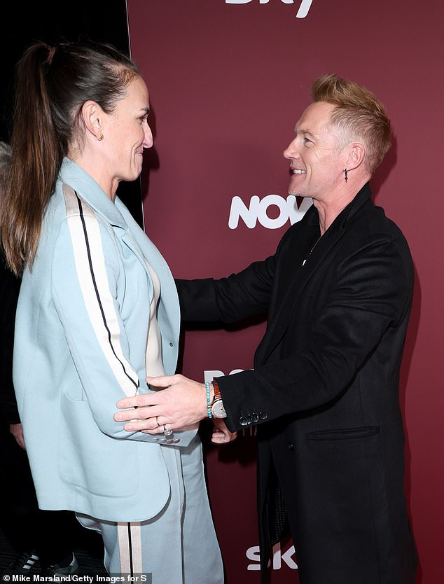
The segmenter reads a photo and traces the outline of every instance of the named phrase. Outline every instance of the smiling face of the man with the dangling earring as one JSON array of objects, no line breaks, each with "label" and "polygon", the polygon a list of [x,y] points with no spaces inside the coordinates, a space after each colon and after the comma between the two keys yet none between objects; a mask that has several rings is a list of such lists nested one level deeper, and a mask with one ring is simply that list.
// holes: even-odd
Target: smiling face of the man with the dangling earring
[{"label": "smiling face of the man with the dangling earring", "polygon": [[334,127],[329,127],[333,109],[332,104],[314,102],[296,124],[296,137],[284,151],[284,157],[291,161],[290,195],[326,200],[343,182],[338,137]]}]

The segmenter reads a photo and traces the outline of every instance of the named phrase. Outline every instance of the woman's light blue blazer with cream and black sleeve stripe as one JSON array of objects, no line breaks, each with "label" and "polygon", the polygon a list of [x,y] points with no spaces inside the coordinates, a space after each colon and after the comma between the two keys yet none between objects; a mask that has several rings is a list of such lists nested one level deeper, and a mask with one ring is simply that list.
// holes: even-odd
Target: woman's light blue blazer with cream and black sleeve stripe
[{"label": "woman's light blue blazer with cream and black sleeve stripe", "polygon": [[[70,186],[74,189],[64,187]],[[158,249],[116,197],[64,159],[15,323],[14,385],[39,506],[141,521],[165,506],[162,449],[114,422],[116,402],[148,391],[153,284],[167,375],[176,369],[179,300]],[[181,432],[186,446],[196,431]]]}]

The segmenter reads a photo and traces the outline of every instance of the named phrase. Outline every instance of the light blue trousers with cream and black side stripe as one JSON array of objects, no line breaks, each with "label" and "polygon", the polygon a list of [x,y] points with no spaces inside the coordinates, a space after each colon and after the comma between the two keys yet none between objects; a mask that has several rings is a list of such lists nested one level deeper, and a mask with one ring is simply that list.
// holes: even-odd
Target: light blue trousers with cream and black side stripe
[{"label": "light blue trousers with cream and black side stripe", "polygon": [[[165,507],[139,523],[107,522],[77,515],[102,534],[104,564],[113,576],[146,574],[146,584],[223,584],[221,552],[204,480],[202,445],[162,446],[171,493]],[[149,496],[149,493],[146,493]],[[149,576],[151,575],[151,576]]]}]

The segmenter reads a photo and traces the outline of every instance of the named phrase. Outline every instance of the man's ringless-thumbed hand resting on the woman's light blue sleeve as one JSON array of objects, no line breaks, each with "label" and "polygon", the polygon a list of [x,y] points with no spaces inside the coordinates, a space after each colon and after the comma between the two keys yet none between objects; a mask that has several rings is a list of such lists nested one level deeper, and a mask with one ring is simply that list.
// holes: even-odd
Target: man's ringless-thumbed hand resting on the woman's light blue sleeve
[{"label": "man's ringless-thumbed hand resting on the woman's light blue sleeve", "polygon": [[171,430],[180,430],[207,417],[204,383],[183,375],[146,377],[146,382],[153,388],[165,389],[118,401],[118,408],[132,408],[114,415],[116,422],[127,422],[125,430],[160,434],[164,424]]}]

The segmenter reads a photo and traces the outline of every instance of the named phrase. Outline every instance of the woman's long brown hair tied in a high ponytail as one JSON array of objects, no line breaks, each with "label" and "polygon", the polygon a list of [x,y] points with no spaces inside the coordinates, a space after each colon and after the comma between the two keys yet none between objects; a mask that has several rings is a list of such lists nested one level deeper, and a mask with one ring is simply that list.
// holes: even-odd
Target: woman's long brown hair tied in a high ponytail
[{"label": "woman's long brown hair tied in a high ponytail", "polygon": [[106,113],[125,96],[137,66],[116,48],[97,43],[34,43],[16,69],[13,157],[1,218],[1,240],[11,270],[32,265],[55,181],[76,140],[89,99]]}]

